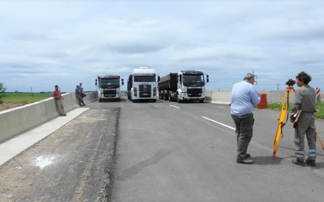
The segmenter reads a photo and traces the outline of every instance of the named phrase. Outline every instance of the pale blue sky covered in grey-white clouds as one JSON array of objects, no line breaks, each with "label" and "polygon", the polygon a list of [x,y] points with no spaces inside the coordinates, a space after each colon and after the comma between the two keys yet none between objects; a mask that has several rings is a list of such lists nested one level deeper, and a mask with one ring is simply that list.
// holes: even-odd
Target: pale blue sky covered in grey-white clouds
[{"label": "pale blue sky covered in grey-white clouds", "polygon": [[231,90],[253,71],[257,90],[285,90],[286,80],[306,71],[310,85],[324,90],[323,1],[8,2],[0,0],[7,92],[56,84],[73,92],[79,82],[96,90],[98,75],[120,75],[126,84],[139,67],[161,77],[203,71],[207,90]]}]

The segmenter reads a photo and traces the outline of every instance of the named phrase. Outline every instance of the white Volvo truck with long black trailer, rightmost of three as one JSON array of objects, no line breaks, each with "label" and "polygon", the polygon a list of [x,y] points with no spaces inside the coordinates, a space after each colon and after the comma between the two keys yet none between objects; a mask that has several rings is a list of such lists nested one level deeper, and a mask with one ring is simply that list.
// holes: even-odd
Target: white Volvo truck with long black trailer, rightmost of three
[{"label": "white Volvo truck with long black trailer, rightmost of three", "polygon": [[[207,83],[209,82],[206,75]],[[158,81],[160,100],[193,101],[203,103],[205,96],[205,79],[202,71],[182,70],[179,73],[169,73]]]}]

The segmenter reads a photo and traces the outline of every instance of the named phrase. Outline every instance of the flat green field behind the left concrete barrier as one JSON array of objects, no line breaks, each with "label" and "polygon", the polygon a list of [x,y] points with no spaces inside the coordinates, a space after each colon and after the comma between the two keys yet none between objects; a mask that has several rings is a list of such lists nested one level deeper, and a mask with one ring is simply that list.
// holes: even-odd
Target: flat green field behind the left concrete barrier
[{"label": "flat green field behind the left concrete barrier", "polygon": [[2,98],[4,103],[24,103],[24,102],[38,102],[52,97],[52,93],[33,93],[33,97],[30,93],[5,93],[5,97]]}]

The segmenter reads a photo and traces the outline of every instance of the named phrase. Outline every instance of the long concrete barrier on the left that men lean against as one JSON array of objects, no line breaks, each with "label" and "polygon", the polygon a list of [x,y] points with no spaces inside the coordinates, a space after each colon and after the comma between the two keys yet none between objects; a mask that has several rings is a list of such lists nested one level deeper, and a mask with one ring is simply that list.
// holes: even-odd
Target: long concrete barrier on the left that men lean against
[{"label": "long concrete barrier on the left that men lean against", "polygon": [[[87,103],[98,100],[97,92],[86,94],[87,97],[83,98],[83,100]],[[75,93],[66,93],[62,97],[64,97],[65,112],[79,106]],[[2,111],[0,112],[0,142],[4,142],[57,116],[59,116],[59,113],[56,110],[54,98]]]}]

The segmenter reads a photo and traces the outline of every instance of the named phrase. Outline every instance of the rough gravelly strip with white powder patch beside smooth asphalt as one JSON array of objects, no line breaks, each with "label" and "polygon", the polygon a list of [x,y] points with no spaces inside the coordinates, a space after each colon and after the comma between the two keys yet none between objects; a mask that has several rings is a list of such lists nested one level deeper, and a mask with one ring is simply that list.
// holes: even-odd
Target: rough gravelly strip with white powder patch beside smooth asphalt
[{"label": "rough gravelly strip with white powder patch beside smooth asphalt", "polygon": [[89,109],[10,161],[0,201],[108,201],[119,111]]}]

